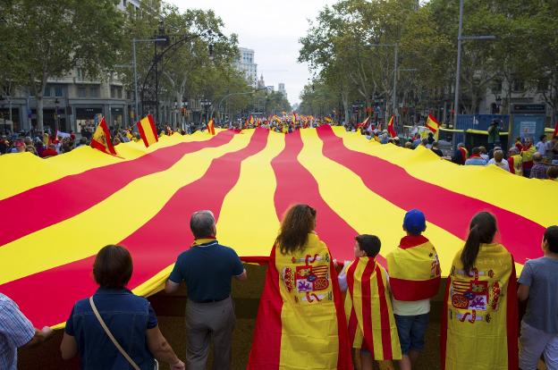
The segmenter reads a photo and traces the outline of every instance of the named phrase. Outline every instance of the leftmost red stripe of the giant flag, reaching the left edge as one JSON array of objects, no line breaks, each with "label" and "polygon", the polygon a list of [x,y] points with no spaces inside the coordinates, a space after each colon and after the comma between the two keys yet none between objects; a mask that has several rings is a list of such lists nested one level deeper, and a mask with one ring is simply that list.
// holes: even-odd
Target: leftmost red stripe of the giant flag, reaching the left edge
[{"label": "leftmost red stripe of the giant flag, reaching the left edge", "polygon": [[[232,132],[224,131],[207,141],[163,147],[131,161],[92,168],[5,198],[0,201],[0,214],[10,214],[4,219],[5,230],[10,232],[0,232],[0,248],[24,235],[84,212],[131,181],[167,170],[188,153],[205,147],[220,147],[230,142],[233,136]],[[46,211],[45,199],[55,200],[63,206],[50,206]]]}]

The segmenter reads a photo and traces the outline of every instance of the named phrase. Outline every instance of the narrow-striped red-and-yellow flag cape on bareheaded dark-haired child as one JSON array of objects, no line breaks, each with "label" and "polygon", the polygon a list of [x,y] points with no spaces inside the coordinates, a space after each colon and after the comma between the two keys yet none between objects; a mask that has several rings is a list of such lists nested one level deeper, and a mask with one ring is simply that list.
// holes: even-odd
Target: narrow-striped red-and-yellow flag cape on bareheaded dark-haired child
[{"label": "narrow-striped red-and-yellow flag cape on bareheaded dark-haired child", "polygon": [[378,361],[401,359],[385,270],[374,258],[359,257],[347,268],[347,285],[345,313],[352,347],[368,349]]}]

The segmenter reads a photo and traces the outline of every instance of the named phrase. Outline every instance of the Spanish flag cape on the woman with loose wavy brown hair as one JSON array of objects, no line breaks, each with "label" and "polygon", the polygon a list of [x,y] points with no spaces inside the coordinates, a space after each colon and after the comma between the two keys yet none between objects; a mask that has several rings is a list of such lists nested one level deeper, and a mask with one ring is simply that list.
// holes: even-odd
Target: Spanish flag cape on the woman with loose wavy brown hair
[{"label": "Spanish flag cape on the woman with loose wavy brown hair", "polygon": [[337,273],[314,233],[303,250],[274,246],[259,300],[248,369],[352,370]]}]

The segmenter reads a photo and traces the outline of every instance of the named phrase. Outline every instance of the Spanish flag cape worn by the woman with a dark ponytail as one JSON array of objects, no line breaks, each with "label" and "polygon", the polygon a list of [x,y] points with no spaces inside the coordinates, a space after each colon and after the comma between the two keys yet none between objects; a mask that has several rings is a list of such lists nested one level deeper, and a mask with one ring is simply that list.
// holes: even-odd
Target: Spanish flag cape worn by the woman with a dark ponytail
[{"label": "Spanish flag cape worn by the woman with a dark ponytail", "polygon": [[518,368],[515,265],[501,244],[481,244],[477,261],[463,271],[453,258],[442,313],[442,370]]}]

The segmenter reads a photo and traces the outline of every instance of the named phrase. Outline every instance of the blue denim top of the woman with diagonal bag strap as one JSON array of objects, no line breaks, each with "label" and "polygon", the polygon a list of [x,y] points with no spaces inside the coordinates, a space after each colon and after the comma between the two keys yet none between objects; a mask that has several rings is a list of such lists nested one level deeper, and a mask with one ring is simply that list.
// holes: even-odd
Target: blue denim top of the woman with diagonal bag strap
[{"label": "blue denim top of the woman with diagonal bag strap", "polygon": [[[149,352],[146,335],[148,329],[156,327],[157,320],[148,299],[126,289],[99,288],[93,300],[116,341],[139,368],[153,370],[155,361]],[[89,299],[81,299],[74,305],[65,332],[78,343],[81,369],[132,368],[99,324]]]}]

